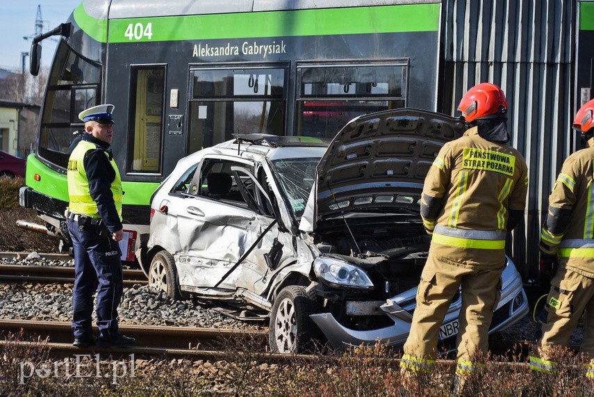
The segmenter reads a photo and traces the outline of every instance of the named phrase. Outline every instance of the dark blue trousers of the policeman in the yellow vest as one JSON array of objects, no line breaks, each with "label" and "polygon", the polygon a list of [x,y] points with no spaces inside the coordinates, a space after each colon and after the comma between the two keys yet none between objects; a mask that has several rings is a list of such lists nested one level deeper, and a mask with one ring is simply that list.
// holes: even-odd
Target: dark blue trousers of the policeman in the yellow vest
[{"label": "dark blue trousers of the policeman in the yellow vest", "polygon": [[74,249],[74,289],[72,291],[72,330],[75,338],[92,337],[93,293],[97,290],[99,337],[115,336],[117,306],[122,299],[122,262],[119,244],[111,236],[99,236],[99,226],[68,220]]}]

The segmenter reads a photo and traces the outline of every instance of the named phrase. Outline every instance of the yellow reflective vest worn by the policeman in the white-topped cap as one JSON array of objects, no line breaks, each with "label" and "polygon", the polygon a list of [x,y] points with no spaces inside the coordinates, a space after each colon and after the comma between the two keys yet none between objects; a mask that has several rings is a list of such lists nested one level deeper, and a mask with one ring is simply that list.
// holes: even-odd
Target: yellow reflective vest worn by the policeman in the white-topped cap
[{"label": "yellow reflective vest worn by the policeman in the white-topped cap", "polygon": [[[89,192],[89,181],[84,164],[87,152],[95,149],[97,149],[97,145],[94,143],[81,140],[72,151],[72,154],[70,154],[66,173],[70,199],[68,206],[72,213],[100,218],[97,211],[97,203],[93,201]],[[108,156],[107,152],[106,156]],[[110,160],[110,164],[113,170],[115,170],[115,179],[113,179],[110,189],[111,193],[113,193],[113,202],[119,215],[119,220],[122,220],[122,178],[119,176],[119,170],[113,159]]]}]

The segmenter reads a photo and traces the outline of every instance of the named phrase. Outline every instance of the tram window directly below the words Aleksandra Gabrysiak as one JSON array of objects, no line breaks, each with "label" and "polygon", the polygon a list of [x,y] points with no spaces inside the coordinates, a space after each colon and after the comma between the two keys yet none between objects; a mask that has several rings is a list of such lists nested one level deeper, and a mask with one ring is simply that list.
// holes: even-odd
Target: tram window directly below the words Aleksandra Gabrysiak
[{"label": "tram window directly below the words Aleksandra Gabrysiak", "polygon": [[234,133],[284,135],[286,67],[192,70],[188,153]]}]

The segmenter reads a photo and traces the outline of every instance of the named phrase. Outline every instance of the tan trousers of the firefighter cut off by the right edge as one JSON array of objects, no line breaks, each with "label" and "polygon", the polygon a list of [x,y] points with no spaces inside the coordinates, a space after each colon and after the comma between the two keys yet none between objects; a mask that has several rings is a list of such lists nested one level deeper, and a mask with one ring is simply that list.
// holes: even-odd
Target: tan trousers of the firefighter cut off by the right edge
[{"label": "tan trousers of the firefighter cut off by the right edge", "polygon": [[550,359],[547,350],[553,346],[568,346],[584,310],[584,339],[579,351],[594,359],[594,279],[561,266],[551,281],[545,318],[541,318],[539,351],[543,359]]}]

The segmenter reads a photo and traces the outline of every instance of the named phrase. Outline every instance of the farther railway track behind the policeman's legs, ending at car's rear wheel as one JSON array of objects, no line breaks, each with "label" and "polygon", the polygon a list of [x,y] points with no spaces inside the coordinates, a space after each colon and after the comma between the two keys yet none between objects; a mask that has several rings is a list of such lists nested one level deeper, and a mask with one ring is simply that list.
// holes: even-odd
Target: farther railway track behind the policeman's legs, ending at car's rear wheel
[{"label": "farther railway track behind the policeman's legs, ending at car's rear wheel", "polygon": [[[142,273],[142,270],[124,269],[123,272],[124,286],[148,284],[147,276]],[[74,284],[74,267],[0,265],[0,280]]]}]

